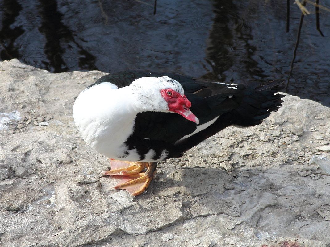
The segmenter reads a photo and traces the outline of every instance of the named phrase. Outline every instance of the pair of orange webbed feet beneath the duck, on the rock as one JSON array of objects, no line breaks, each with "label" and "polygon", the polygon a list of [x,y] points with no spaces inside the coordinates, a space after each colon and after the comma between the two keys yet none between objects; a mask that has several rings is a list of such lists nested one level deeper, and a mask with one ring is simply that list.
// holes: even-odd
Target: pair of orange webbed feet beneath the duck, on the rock
[{"label": "pair of orange webbed feet beneath the duck, on the rock", "polygon": [[[118,163],[117,163],[118,162]],[[113,167],[114,164],[114,167]],[[126,166],[124,166],[126,164]],[[150,185],[156,172],[157,162],[124,162],[111,160],[111,170],[102,171],[100,174],[121,175],[122,180],[111,189],[124,189],[131,193],[131,196],[142,194]],[[146,172],[140,172],[148,167]]]}]

